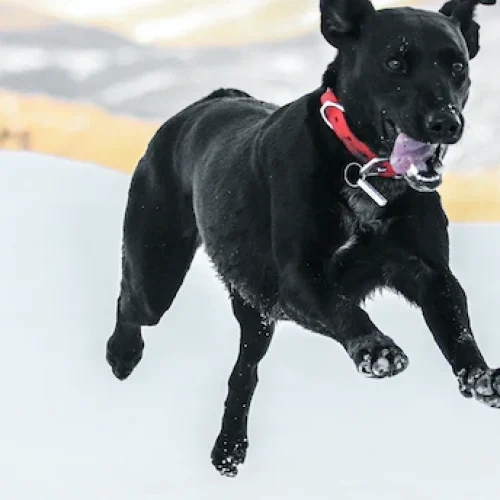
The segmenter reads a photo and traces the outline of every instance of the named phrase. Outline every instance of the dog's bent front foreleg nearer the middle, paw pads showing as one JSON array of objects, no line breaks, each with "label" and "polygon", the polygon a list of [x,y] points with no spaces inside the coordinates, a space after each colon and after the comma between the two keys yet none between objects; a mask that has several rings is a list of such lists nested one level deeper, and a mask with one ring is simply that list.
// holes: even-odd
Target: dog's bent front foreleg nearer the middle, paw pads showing
[{"label": "dog's bent front foreleg nearer the middle, paw pads showing", "polygon": [[368,314],[326,280],[323,270],[311,272],[289,264],[283,269],[280,305],[299,325],[340,342],[358,371],[371,378],[397,375],[408,366],[408,358],[384,335]]}]

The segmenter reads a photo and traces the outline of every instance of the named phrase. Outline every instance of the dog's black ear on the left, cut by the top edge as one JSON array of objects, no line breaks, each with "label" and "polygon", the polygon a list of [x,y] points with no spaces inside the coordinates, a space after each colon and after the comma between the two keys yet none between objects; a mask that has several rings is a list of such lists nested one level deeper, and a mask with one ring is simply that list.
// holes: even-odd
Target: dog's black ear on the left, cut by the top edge
[{"label": "dog's black ear on the left, cut by the top edge", "polygon": [[321,33],[334,47],[355,39],[366,18],[375,13],[370,0],[320,0]]}]

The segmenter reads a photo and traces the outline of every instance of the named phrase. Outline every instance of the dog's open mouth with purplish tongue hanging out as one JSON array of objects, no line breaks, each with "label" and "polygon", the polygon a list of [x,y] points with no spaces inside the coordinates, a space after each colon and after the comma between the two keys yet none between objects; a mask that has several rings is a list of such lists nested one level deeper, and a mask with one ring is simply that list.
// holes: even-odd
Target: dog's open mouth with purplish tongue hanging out
[{"label": "dog's open mouth with purplish tongue hanging out", "polygon": [[395,137],[390,155],[394,171],[416,191],[435,191],[443,182],[443,158],[448,146],[417,141],[389,120],[385,125],[389,137]]}]

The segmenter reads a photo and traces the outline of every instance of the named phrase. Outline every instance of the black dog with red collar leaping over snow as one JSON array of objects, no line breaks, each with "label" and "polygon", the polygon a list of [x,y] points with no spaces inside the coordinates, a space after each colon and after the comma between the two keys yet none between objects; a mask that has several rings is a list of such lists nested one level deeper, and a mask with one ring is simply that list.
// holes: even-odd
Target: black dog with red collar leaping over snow
[{"label": "black dog with red collar leaping over snow", "polygon": [[[340,342],[366,376],[407,367],[360,307],[383,287],[421,308],[462,394],[500,406],[500,372],[474,341],[435,191],[446,147],[462,135],[476,3],[495,1],[432,13],[323,0],[322,33],[338,55],[320,88],[280,108],[218,90],[168,120],[139,161],[107,359],[116,377],[130,375],[141,326],[160,321],[203,244],[241,326],[212,451],[221,473],[245,459],[257,366],[277,321]],[[401,135],[431,151],[423,168],[398,174],[381,160]]]}]

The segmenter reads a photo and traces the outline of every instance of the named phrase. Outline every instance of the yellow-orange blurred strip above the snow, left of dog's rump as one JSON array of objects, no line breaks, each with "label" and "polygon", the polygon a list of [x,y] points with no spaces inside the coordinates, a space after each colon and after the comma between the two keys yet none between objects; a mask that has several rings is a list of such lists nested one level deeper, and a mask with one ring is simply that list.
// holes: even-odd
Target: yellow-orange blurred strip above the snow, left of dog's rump
[{"label": "yellow-orange blurred strip above the snow, left of dog's rump", "polygon": [[0,147],[96,162],[131,172],[159,124],[98,106],[0,91]]}]

